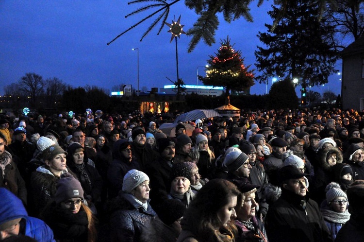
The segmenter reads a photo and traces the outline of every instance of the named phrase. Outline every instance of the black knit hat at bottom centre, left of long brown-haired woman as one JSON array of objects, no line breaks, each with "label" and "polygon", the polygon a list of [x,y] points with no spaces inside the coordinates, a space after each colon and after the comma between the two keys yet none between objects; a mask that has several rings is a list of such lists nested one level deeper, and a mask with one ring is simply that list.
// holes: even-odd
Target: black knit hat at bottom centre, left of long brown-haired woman
[{"label": "black knit hat at bottom centre, left of long brown-haired woman", "polygon": [[161,207],[157,214],[159,219],[166,225],[171,225],[177,219],[183,217],[186,206],[177,199],[166,199],[162,202]]}]

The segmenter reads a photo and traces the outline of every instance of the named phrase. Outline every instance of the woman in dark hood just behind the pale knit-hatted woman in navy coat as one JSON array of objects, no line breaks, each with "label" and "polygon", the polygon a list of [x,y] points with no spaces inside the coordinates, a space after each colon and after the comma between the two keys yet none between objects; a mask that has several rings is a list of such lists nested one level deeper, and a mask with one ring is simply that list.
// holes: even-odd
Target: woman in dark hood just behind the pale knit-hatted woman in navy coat
[{"label": "woman in dark hood just behind the pale knit-hatted woman in navy coat", "polygon": [[128,142],[127,138],[119,139],[114,143],[113,156],[114,159],[107,172],[109,198],[116,197],[122,190],[126,173],[132,169],[141,170],[139,162],[132,156],[131,143]]}]

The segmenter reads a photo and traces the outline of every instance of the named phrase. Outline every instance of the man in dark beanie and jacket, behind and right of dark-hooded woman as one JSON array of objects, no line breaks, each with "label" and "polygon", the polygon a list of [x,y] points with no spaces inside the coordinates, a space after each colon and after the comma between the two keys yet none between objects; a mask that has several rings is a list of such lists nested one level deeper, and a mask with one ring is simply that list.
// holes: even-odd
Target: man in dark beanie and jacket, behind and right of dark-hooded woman
[{"label": "man in dark beanie and jacket, behind and right of dark-hooded woman", "polygon": [[136,161],[139,162],[142,172],[145,172],[147,167],[151,165],[156,157],[156,152],[147,147],[146,133],[141,127],[134,127],[132,129],[132,154],[135,156]]}]

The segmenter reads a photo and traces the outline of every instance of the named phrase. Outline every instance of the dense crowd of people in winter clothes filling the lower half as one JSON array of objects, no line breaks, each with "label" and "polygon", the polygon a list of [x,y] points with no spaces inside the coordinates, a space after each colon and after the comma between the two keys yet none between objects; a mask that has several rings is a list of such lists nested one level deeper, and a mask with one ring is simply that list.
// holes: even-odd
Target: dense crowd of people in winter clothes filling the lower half
[{"label": "dense crowd of people in winter clothes filling the lower half", "polygon": [[363,112],[164,122],[1,116],[0,241],[364,241]]}]

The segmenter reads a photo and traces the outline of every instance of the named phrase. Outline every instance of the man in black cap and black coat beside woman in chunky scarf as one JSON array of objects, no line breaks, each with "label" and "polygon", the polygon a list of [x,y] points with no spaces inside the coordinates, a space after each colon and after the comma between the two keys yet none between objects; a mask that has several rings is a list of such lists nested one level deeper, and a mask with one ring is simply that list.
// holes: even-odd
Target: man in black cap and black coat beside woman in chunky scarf
[{"label": "man in black cap and black coat beside woman in chunky scarf", "polygon": [[310,199],[304,176],[289,165],[279,171],[280,198],[269,206],[265,228],[270,242],[329,242],[330,232],[316,202]]}]

